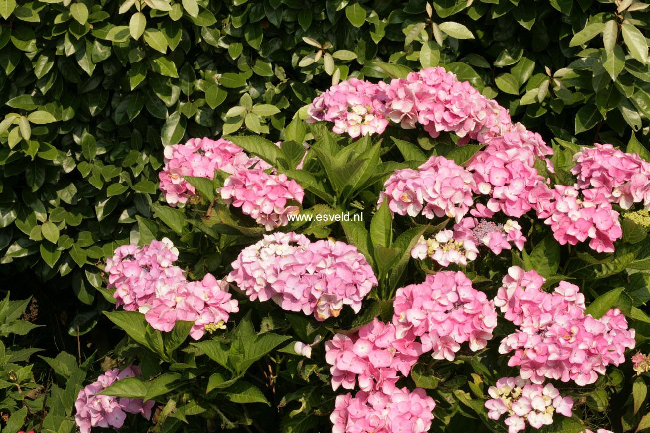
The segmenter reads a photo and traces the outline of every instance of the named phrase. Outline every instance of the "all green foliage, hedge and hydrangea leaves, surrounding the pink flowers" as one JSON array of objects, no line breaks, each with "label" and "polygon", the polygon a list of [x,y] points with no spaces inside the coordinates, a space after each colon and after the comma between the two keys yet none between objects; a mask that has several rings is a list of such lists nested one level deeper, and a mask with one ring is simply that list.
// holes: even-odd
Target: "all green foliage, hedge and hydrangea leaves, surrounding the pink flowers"
[{"label": "all green foliage, hedge and hydrangea leaves, surrounding the pink flowers", "polygon": [[[42,304],[52,310],[49,322],[40,319],[47,328],[29,334],[46,347],[40,358],[23,337],[34,326],[19,320],[28,302],[6,298],[0,305],[0,411],[14,413],[3,432],[17,431],[22,421],[37,432],[74,431],[72,404],[86,374],[133,360],[144,378],[120,392],[157,401],[155,432],[331,428],[335,393],[326,363],[297,357],[293,343],[378,315],[390,319],[386,301],[395,289],[426,272],[409,262],[410,249],[438,228],[422,220],[387,231],[385,209],[374,210],[376,194],[395,168],[432,151],[458,163],[471,156],[449,153],[452,138],[352,142],[331,136],[325,125],[305,126],[305,105],[333,83],[443,66],[552,142],[557,176],[567,183],[579,144],[609,142],[650,159],[650,9],[642,3],[0,0],[0,16],[0,272],[8,287],[20,279],[26,291],[55,292],[43,295],[54,299]],[[157,189],[164,146],[242,134],[268,138],[231,140],[303,185],[305,213],[363,213],[363,223],[293,222],[287,229],[355,244],[380,280],[376,299],[356,317],[348,311],[324,323],[243,300],[241,311],[252,313],[240,313],[237,328],[192,345],[182,329],[164,334],[139,313],[125,319],[112,311],[101,262],[119,244],[168,236],[183,247],[188,276],[199,279],[225,274],[243,246],[259,238],[259,227],[222,203],[208,209],[210,187],[196,185],[200,200],[186,211],[160,203]],[[313,145],[305,170],[296,170],[297,147],[278,151],[277,140]],[[546,233],[530,233],[523,256],[500,256],[503,263],[492,268],[484,263],[472,271],[474,282],[500,280],[506,262],[551,281],[571,278],[590,312],[617,306],[647,345],[650,249],[638,224],[624,223],[623,230],[628,243],[607,255],[560,250]],[[33,288],[41,282],[45,289]],[[100,342],[106,334],[110,345]],[[68,352],[78,347],[78,356],[60,352],[60,343]],[[313,357],[322,359],[322,345]],[[571,389],[580,402],[577,418],[621,431],[650,426],[647,374],[632,384],[630,371],[610,369],[588,389]],[[507,374],[489,348],[434,369],[417,365],[409,380],[439,402],[436,429],[501,431],[482,399],[486,384]],[[476,417],[485,425],[477,426]],[[584,427],[577,418],[545,431],[577,432]],[[148,428],[137,422],[133,431]]]}]

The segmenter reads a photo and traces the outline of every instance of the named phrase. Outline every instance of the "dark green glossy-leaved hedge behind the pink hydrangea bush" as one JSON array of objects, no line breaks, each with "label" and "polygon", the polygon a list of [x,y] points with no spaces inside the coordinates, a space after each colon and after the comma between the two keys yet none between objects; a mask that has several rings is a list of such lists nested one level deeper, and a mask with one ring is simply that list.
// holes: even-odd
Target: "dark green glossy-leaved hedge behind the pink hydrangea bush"
[{"label": "dark green glossy-leaved hedge behind the pink hydrangea bush", "polygon": [[[332,83],[439,65],[557,149],[610,142],[650,157],[650,8],[629,0],[0,0],[0,16],[0,278],[12,298],[34,296],[21,309],[47,326],[14,349],[44,348],[47,363],[19,378],[44,388],[14,393],[5,412],[29,400],[30,413],[70,415],[120,341],[98,265],[157,234],[163,146],[283,140]],[[202,260],[196,274],[221,258]]]}]

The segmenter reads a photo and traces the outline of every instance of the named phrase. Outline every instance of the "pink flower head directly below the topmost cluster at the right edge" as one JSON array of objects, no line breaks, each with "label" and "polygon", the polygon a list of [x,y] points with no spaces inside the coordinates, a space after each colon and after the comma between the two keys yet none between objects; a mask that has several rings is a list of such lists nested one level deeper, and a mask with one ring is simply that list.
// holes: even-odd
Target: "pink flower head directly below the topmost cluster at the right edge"
[{"label": "pink flower head directly below the topmost cluster at the right edge", "polygon": [[[550,195],[549,195],[550,194]],[[575,245],[591,239],[589,246],[597,252],[614,252],[614,241],[623,235],[619,213],[612,209],[603,190],[554,185],[549,197],[538,208],[539,218],[546,218],[553,237],[560,244]]]}]

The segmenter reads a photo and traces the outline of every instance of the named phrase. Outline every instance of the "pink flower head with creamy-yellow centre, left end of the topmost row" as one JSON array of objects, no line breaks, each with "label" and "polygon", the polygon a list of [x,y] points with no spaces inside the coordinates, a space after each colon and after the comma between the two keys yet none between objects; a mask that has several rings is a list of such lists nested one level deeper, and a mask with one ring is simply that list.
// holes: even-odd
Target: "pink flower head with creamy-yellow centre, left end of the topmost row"
[{"label": "pink flower head with creamy-yellow centre, left end of the topmost row", "polygon": [[332,130],[352,138],[381,134],[388,125],[379,87],[369,81],[351,78],[314,98],[307,109],[307,123],[327,120]]}]

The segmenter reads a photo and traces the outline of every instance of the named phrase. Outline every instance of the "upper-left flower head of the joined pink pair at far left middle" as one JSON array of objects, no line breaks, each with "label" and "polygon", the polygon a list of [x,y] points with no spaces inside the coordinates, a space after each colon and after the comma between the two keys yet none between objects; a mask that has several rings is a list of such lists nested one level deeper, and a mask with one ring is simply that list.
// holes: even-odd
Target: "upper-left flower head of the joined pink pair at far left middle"
[{"label": "upper-left flower head of the joined pink pair at far left middle", "polygon": [[151,304],[160,287],[184,282],[183,270],[174,265],[177,259],[178,249],[166,237],[142,248],[134,244],[118,246],[106,261],[108,288],[115,289],[116,306],[138,311],[140,306]]}]

